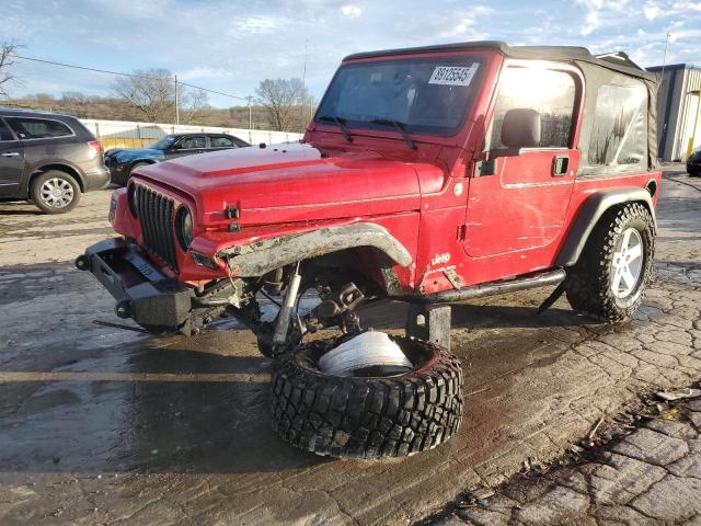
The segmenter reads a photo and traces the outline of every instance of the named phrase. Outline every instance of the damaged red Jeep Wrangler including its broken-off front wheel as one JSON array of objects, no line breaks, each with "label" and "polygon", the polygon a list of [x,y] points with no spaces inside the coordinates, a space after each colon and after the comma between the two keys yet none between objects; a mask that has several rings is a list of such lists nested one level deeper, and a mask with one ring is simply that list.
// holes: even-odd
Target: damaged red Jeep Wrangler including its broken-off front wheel
[{"label": "damaged red Jeep Wrangler including its broken-off front wheel", "polygon": [[[194,334],[225,315],[251,328],[283,358],[273,420],[292,444],[427,449],[455,433],[463,402],[441,304],[550,285],[541,309],[565,293],[618,322],[640,305],[660,182],[655,80],[579,47],[353,55],[301,144],[140,168],[112,198],[120,237],[77,266],[149,331]],[[374,336],[335,356],[353,362],[345,371],[324,366],[371,334],[358,308],[387,299],[410,304],[402,355]],[[330,327],[346,335],[301,343]]]}]

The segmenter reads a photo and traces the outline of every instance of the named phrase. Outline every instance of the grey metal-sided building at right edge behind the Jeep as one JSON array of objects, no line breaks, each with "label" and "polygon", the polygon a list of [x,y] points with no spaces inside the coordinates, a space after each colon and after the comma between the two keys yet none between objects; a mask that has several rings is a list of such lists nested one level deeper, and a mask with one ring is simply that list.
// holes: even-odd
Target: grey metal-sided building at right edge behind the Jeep
[{"label": "grey metal-sided building at right edge behind the Jeep", "polygon": [[657,94],[659,158],[664,161],[686,161],[691,139],[694,147],[701,146],[701,68],[689,64],[671,64],[647,70],[662,75]]}]

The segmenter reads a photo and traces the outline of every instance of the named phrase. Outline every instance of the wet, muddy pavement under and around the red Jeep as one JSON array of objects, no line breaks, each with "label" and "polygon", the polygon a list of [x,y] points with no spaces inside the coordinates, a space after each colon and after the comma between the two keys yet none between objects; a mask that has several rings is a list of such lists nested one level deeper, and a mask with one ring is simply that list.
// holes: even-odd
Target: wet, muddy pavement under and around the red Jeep
[{"label": "wet, muddy pavement under and around the red Jeep", "polygon": [[[114,301],[72,259],[111,235],[107,192],[68,216],[0,205],[0,524],[406,524],[562,453],[642,392],[701,377],[701,182],[670,170],[657,277],[608,327],[549,290],[453,308],[467,380],[448,444],[381,462],[294,449],[268,376],[231,321],[194,338],[106,328]],[[399,331],[402,308],[364,321]]]}]

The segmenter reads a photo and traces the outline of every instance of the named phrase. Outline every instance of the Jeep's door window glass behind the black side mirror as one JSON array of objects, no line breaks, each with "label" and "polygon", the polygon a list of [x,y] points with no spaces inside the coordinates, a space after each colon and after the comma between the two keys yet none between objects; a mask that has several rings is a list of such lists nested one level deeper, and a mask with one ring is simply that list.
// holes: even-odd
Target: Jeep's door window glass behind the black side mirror
[{"label": "Jeep's door window glass behind the black side mirror", "polygon": [[505,148],[502,124],[509,110],[536,110],[541,119],[541,148],[568,148],[576,99],[574,78],[564,71],[536,68],[507,68],[502,73],[486,149]]}]

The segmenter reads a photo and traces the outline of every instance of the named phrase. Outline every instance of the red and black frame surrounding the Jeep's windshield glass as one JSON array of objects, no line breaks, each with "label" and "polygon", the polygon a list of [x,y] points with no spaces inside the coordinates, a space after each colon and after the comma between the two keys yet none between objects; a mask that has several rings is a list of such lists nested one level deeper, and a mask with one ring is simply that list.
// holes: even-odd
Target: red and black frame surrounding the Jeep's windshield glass
[{"label": "red and black frame surrounding the Jeep's windshield glass", "polygon": [[[479,54],[478,53],[445,53],[445,54],[430,53],[430,54],[422,54],[416,56],[388,55],[384,57],[374,57],[374,58],[364,58],[358,60],[344,61],[338,67],[338,69],[336,69],[336,72],[331,79],[331,82],[329,82],[329,87],[326,88],[326,91],[324,92],[319,103],[319,106],[317,106],[317,112],[314,114],[314,118],[312,122],[315,126],[337,128],[335,124],[330,123],[327,121],[320,121],[319,117],[323,116],[324,114],[329,114],[329,110],[324,108],[324,103],[330,96],[332,96],[332,88],[334,83],[337,81],[338,76],[342,75],[342,71],[344,71],[346,68],[361,67],[361,66],[367,66],[368,64],[375,65],[375,64],[387,64],[387,62],[391,64],[391,62],[421,62],[421,61],[433,62],[435,64],[435,66],[441,66],[439,64],[440,60],[450,60],[451,62],[464,61],[466,64],[461,64],[461,65],[453,64],[455,66],[461,66],[461,67],[469,66],[467,62],[479,64],[478,70],[474,73],[474,77],[472,78],[472,80],[470,81],[470,87],[472,88],[470,92],[470,100],[466,104],[466,110],[460,121],[455,125],[455,127],[448,127],[448,126],[443,127],[445,132],[438,132],[437,129],[427,130],[425,129],[427,127],[426,125],[418,125],[420,129],[416,129],[416,125],[412,125],[411,123],[400,123],[400,124],[404,127],[405,132],[409,135],[413,135],[413,136],[434,137],[439,139],[448,139],[451,137],[456,137],[464,129],[464,125],[468,122],[472,112],[474,111],[475,103],[480,98],[480,92],[482,89],[482,83],[485,75],[484,72],[489,67],[489,61],[484,56],[484,54],[482,53],[479,53]],[[338,116],[338,115],[335,115],[334,113],[334,116]],[[391,126],[372,123],[371,119],[356,121],[353,118],[348,118],[345,115],[340,115],[338,117],[343,117],[346,126],[355,130],[364,130],[364,132],[372,132],[372,133],[377,132],[383,135],[387,133],[401,135],[397,129],[392,129]],[[374,116],[374,119],[377,119],[377,118],[389,118],[389,117],[383,117],[381,115]],[[357,132],[355,134],[357,135]]]}]

